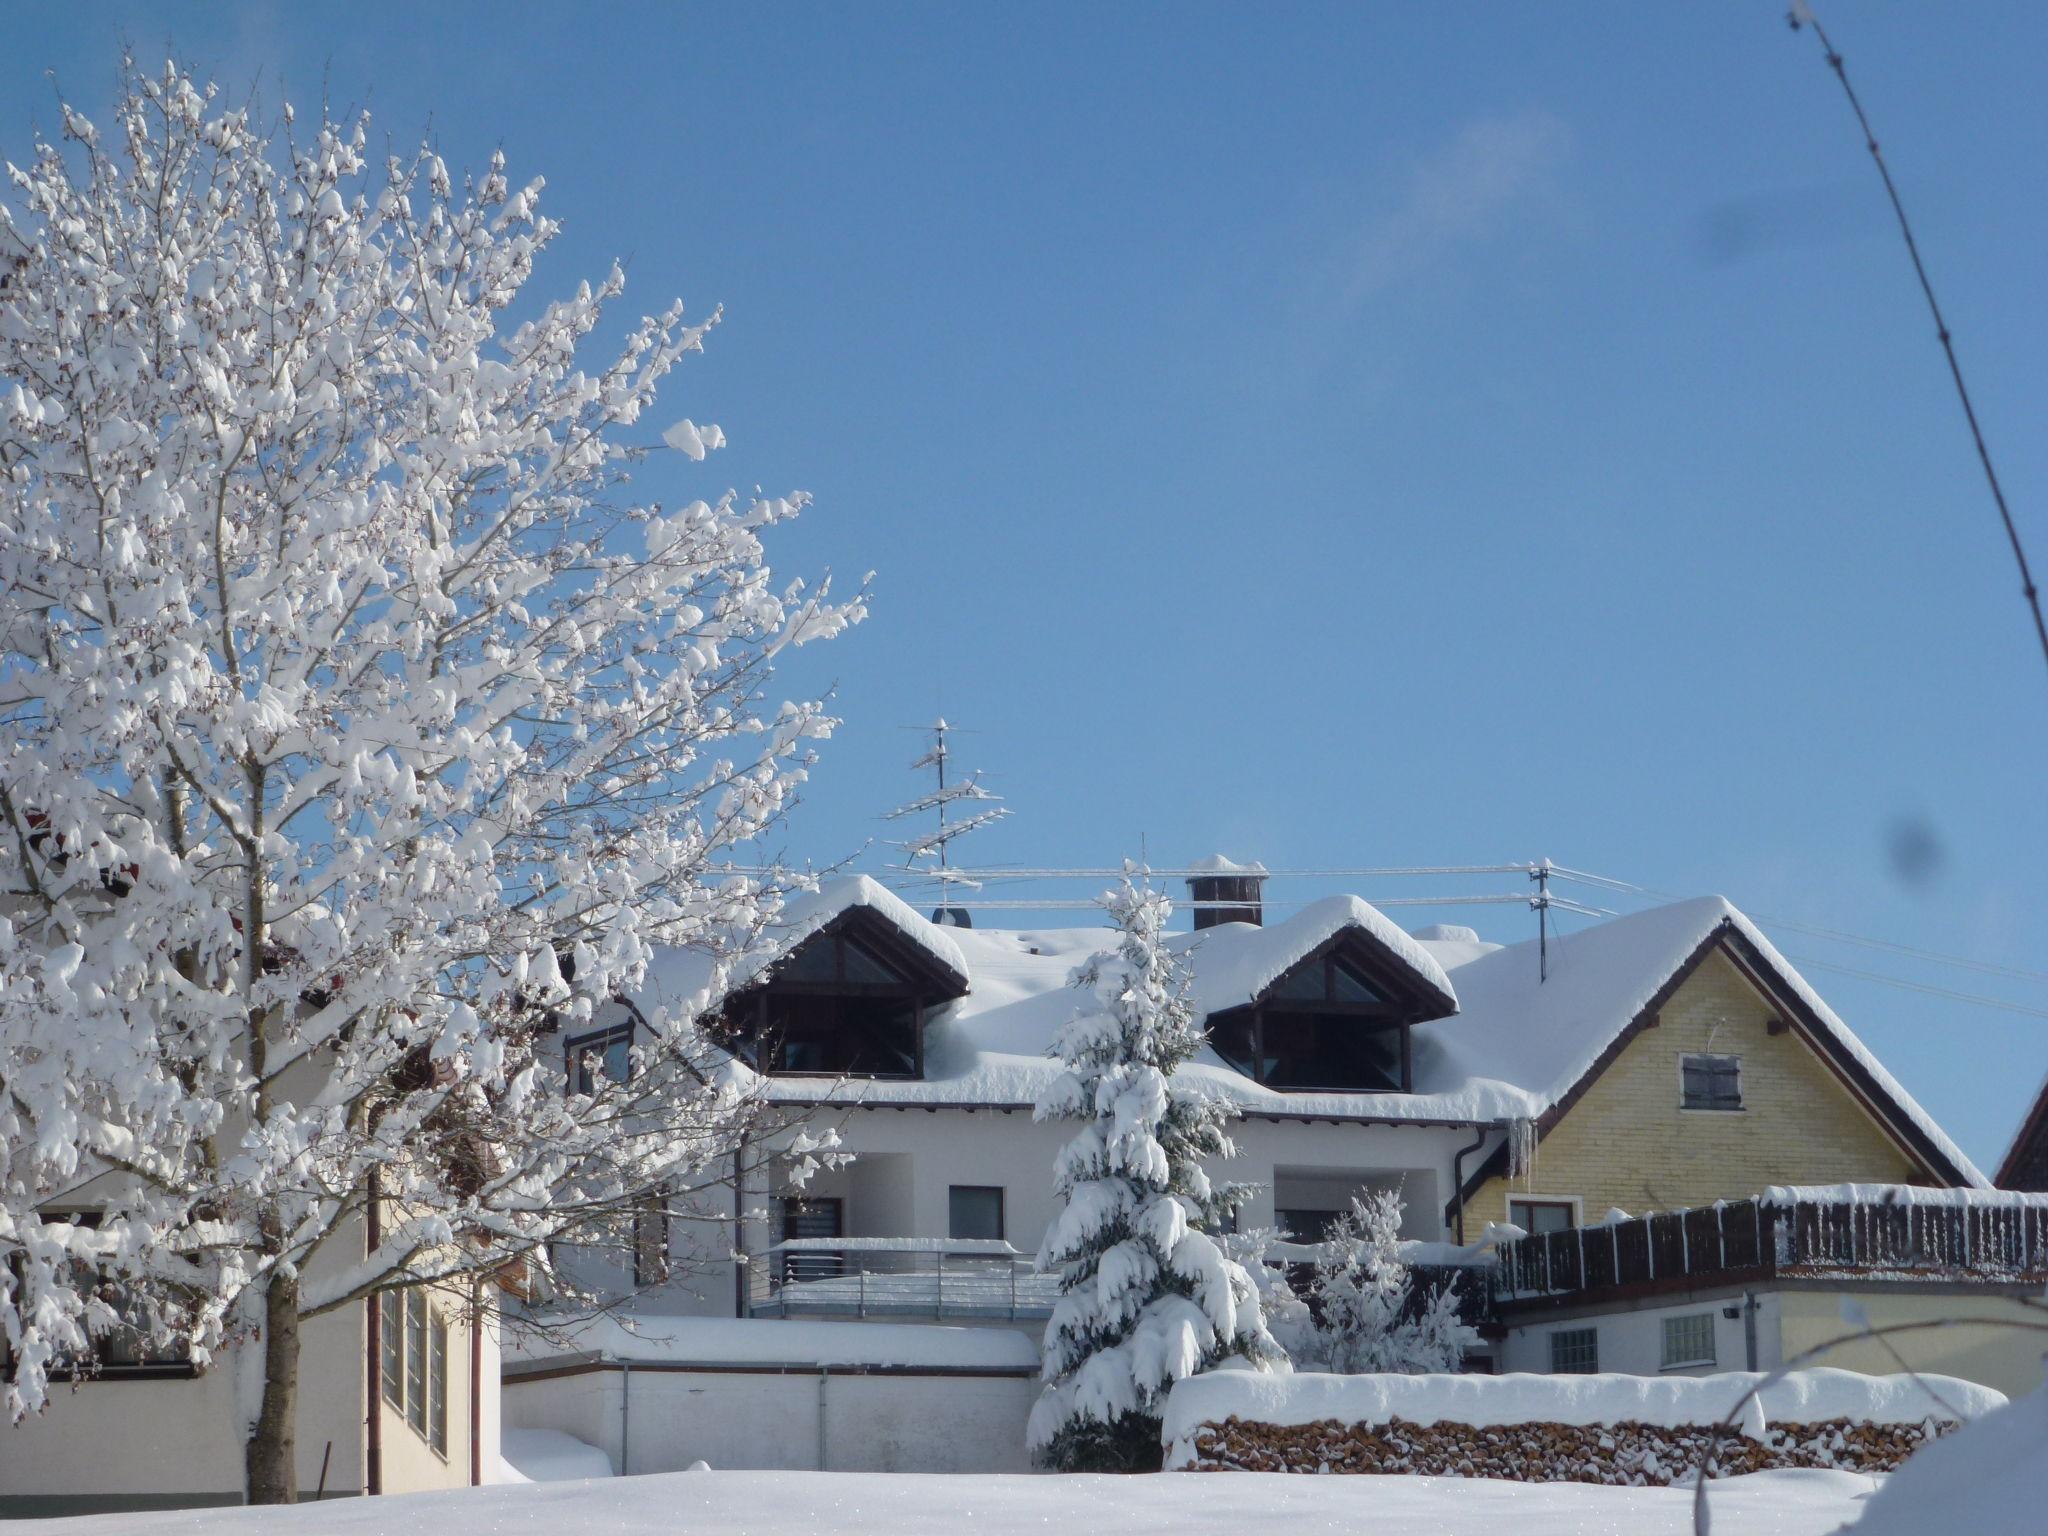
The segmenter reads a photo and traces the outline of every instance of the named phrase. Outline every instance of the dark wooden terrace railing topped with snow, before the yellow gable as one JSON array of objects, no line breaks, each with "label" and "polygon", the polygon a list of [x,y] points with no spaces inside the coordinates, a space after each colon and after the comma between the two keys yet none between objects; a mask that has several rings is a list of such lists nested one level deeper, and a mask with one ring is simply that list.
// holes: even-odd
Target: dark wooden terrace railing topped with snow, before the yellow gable
[{"label": "dark wooden terrace railing topped with snow, before the yellow gable", "polygon": [[1499,1247],[1495,1300],[1688,1278],[1911,1274],[2048,1280],[2048,1196],[1905,1184],[1780,1186]]}]

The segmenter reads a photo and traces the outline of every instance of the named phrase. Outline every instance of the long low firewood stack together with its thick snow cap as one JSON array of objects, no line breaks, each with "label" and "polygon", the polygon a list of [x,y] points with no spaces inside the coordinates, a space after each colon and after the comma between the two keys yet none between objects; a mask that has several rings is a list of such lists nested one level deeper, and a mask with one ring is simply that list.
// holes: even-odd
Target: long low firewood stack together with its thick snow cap
[{"label": "long low firewood stack together with its thick snow cap", "polygon": [[[1210,1372],[1167,1399],[1165,1464],[1415,1470],[1530,1481],[1661,1483],[1696,1466],[1700,1432],[1735,1413],[1724,1470],[1896,1466],[1915,1446],[2005,1403],[1950,1376],[1802,1370],[1718,1376],[1257,1376]],[[1737,1413],[1737,1403],[1743,1403]]]}]

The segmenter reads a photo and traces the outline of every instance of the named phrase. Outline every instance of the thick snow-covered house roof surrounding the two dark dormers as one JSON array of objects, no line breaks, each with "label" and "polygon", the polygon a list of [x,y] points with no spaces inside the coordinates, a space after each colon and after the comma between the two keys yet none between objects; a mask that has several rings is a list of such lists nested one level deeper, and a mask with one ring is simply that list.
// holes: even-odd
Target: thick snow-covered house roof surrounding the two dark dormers
[{"label": "thick snow-covered house roof surrounding the two dark dormers", "polygon": [[[1059,1075],[1059,1063],[1049,1055],[1053,1034],[1083,1001],[1071,985],[1073,971],[1114,948],[1114,932],[1104,926],[942,928],[874,881],[856,877],[793,901],[772,958],[852,905],[885,915],[905,940],[961,975],[967,991],[930,1014],[922,1079],[772,1077],[764,1085],[768,1096],[791,1102],[1032,1106]],[[1346,928],[1380,944],[1417,989],[1440,993],[1446,1012],[1456,1008],[1413,1028],[1413,1094],[1272,1090],[1208,1049],[1182,1073],[1255,1114],[1432,1124],[1540,1120],[1569,1100],[1702,946],[1716,936],[1739,936],[1778,985],[1802,1004],[1837,1057],[1855,1065],[1884,1114],[1946,1159],[1958,1182],[1987,1182],[1755,924],[1722,897],[1675,901],[1563,938],[1552,934],[1544,981],[1538,981],[1534,940],[1499,946],[1470,930],[1446,928],[1413,936],[1358,897],[1313,901],[1266,928],[1217,924],[1176,934],[1171,942],[1194,971],[1196,1008],[1210,1014],[1251,1001],[1294,961]],[[754,963],[748,977],[760,975],[766,965]],[[692,985],[702,987],[705,975],[707,961],[666,954],[649,969],[649,993],[655,1001],[684,1001]]]}]

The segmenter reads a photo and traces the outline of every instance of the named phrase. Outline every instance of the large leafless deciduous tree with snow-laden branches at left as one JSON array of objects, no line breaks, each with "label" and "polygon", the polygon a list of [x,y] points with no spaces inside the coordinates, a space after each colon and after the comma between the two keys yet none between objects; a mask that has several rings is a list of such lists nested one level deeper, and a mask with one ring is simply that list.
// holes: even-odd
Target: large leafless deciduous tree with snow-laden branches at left
[{"label": "large leafless deciduous tree with snow-laden branches at left", "polygon": [[123,1317],[248,1339],[260,1501],[303,1319],[745,1128],[686,1014],[629,1081],[565,1092],[563,1040],[651,946],[760,932],[784,881],[719,864],[829,729],[768,664],[860,616],[770,582],[803,496],[623,494],[717,315],[616,326],[618,268],[537,303],[539,180],[369,141],[129,66],[0,193],[6,1401]]}]

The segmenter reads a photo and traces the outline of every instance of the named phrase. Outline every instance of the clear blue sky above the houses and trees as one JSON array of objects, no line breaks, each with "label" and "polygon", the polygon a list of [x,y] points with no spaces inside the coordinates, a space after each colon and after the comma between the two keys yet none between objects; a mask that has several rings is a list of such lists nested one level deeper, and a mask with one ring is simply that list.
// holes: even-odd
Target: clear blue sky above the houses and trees
[{"label": "clear blue sky above the houses and trees", "polygon": [[[2048,12],[1835,12],[2048,563]],[[809,489],[778,563],[877,571],[782,678],[846,717],[799,856],[885,836],[944,713],[1016,811],[977,862],[1548,856],[2048,971],[2048,668],[1782,6],[39,6],[0,152],[123,33],[502,143],[567,223],[541,289],[725,305],[664,412],[733,446],[647,494]],[[1810,977],[1997,1159],[2048,1020]]]}]

